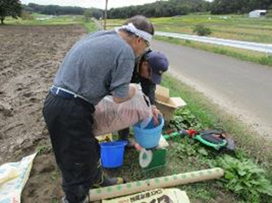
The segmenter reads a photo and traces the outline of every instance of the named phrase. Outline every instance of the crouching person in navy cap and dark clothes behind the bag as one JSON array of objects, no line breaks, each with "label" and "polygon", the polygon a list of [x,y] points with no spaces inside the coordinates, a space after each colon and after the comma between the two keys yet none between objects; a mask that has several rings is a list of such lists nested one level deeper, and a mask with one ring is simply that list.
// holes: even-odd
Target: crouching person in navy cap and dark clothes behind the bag
[{"label": "crouching person in navy cap and dark clothes behind the bag", "polygon": [[[161,112],[156,108],[155,91],[156,85],[161,84],[163,73],[168,70],[169,62],[162,52],[147,50],[135,65],[131,83],[140,83],[143,93],[148,96],[152,105],[153,120],[159,123],[158,117]],[[129,128],[118,132],[119,138],[128,141],[128,146],[133,145],[129,139]]]}]

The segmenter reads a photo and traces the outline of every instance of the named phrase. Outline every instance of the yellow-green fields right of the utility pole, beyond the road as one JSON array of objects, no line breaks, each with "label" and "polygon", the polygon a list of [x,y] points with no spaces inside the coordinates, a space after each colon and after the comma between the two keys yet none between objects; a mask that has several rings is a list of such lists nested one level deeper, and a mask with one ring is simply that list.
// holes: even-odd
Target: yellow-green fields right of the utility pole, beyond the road
[{"label": "yellow-green fields right of the utility pole, beyond the road", "polygon": [[[156,31],[194,34],[193,28],[203,24],[212,31],[211,37],[272,43],[272,18],[248,18],[242,15],[186,15],[151,18]],[[124,20],[108,20],[107,28],[119,26]],[[101,22],[102,23],[102,22]]]}]

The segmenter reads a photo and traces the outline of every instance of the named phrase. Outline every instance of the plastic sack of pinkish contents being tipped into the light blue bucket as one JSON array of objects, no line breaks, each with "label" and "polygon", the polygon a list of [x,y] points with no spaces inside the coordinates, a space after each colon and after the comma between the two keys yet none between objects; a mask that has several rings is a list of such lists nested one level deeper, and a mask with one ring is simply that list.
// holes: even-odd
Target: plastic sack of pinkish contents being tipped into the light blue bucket
[{"label": "plastic sack of pinkish contents being tipped into the light blue bucket", "polygon": [[138,122],[145,127],[152,119],[149,99],[139,85],[131,85],[136,88],[136,93],[130,100],[116,104],[112,96],[106,96],[95,107],[93,129],[95,136],[122,130]]}]

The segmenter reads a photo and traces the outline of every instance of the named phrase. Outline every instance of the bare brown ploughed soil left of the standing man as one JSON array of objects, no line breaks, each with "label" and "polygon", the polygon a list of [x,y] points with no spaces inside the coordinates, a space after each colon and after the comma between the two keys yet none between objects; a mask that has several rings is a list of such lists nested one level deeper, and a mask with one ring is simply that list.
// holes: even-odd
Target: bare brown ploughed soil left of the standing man
[{"label": "bare brown ploughed soil left of the standing man", "polygon": [[85,34],[80,25],[0,26],[0,165],[40,151],[22,202],[57,202],[62,195],[43,100],[65,54]]}]

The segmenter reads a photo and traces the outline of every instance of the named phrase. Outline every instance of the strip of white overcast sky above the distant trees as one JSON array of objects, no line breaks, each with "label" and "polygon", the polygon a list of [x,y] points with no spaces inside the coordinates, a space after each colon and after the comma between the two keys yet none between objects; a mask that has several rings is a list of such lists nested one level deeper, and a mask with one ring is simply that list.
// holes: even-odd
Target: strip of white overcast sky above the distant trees
[{"label": "strip of white overcast sky above the distant trees", "polygon": [[[85,8],[105,8],[105,0],[21,0],[23,4],[35,3],[41,5],[78,6]],[[130,5],[143,5],[157,2],[156,0],[108,0],[108,8],[124,7]]]}]

